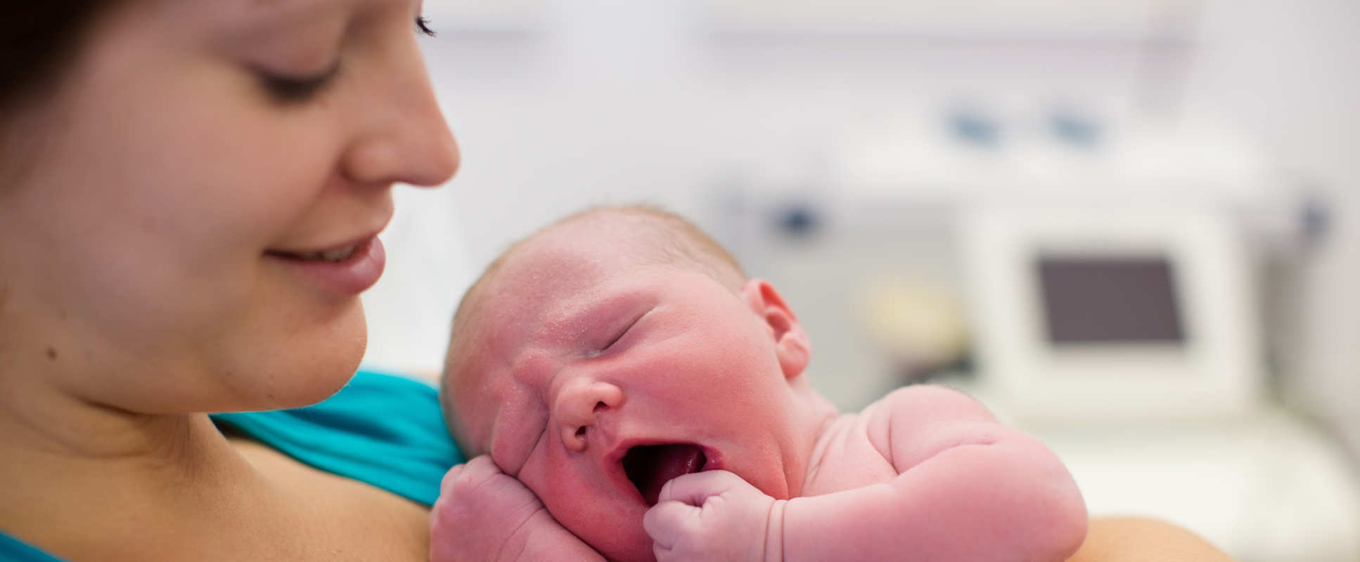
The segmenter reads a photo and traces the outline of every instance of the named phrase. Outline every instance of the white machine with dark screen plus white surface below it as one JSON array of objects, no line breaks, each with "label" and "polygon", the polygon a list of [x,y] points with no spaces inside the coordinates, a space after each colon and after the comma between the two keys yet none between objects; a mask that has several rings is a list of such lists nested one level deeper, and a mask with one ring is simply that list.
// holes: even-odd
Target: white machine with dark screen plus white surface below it
[{"label": "white machine with dark screen plus white surface below it", "polygon": [[981,371],[1093,514],[1151,514],[1242,561],[1360,559],[1360,483],[1268,395],[1251,252],[1220,208],[963,213]]}]

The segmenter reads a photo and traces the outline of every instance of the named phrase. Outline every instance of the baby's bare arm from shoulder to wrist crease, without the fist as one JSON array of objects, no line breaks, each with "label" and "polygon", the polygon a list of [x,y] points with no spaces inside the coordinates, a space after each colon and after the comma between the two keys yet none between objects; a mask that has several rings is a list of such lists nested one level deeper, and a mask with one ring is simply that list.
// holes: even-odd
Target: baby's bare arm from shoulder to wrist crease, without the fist
[{"label": "baby's bare arm from shoulder to wrist crease, without the fist", "polygon": [[794,498],[786,561],[1062,561],[1081,544],[1085,504],[1038,440],[942,387],[899,390],[865,410],[869,441],[898,476]]}]

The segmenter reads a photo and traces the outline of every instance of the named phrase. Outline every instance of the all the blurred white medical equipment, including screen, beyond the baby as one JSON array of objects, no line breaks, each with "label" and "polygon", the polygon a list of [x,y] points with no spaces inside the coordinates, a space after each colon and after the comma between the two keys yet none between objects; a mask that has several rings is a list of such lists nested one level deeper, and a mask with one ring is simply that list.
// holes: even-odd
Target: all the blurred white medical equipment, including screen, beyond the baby
[{"label": "all the blurred white medical equipment, including screen, beyond the baby", "polygon": [[930,375],[1044,440],[1093,514],[1244,562],[1360,559],[1352,460],[1281,400],[1262,326],[1263,265],[1325,209],[1231,130],[941,106],[846,132],[823,187],[756,175],[722,200],[813,384],[854,409]]}]

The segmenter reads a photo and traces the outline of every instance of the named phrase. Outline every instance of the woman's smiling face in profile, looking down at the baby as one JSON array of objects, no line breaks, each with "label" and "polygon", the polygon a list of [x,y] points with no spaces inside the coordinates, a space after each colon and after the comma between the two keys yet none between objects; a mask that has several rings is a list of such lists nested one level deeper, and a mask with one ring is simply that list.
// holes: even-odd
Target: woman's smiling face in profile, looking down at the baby
[{"label": "woman's smiling face in profile, looking down at the baby", "polygon": [[5,368],[143,413],[320,400],[363,353],[392,185],[458,163],[419,1],[128,4],[41,134],[0,130],[31,155],[0,170]]}]

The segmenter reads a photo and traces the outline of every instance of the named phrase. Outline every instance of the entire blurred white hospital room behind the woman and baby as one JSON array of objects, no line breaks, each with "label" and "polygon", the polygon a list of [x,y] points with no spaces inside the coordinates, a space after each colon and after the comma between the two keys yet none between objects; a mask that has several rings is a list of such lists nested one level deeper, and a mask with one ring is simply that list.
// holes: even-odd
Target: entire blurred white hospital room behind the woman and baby
[{"label": "entire blurred white hospital room behind the woman and baby", "polygon": [[367,367],[510,242],[692,219],[842,409],[952,384],[1092,514],[1360,561],[1360,3],[428,0],[462,168],[397,191]]}]

